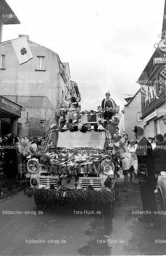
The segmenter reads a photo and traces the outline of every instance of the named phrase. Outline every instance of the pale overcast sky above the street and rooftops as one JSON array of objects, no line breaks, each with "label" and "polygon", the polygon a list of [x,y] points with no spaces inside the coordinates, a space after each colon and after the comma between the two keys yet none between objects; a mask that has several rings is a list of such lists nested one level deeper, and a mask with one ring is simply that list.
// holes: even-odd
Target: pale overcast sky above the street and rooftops
[{"label": "pale overcast sky above the street and rooftops", "polygon": [[160,41],[164,0],[6,0],[20,20],[3,26],[3,41],[30,41],[68,62],[83,109],[97,110],[110,90],[122,109]]}]

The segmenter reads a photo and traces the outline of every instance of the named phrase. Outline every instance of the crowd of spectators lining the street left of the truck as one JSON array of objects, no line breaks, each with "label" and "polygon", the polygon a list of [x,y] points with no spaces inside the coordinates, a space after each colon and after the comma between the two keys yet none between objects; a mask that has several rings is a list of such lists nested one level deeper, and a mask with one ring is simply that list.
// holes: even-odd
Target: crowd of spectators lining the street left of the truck
[{"label": "crowd of spectators lining the street left of the truck", "polygon": [[48,133],[43,136],[24,136],[20,139],[17,135],[7,133],[0,136],[0,195],[5,186],[11,191],[12,185],[20,179],[25,179],[25,173],[21,175],[23,165],[26,165],[26,156],[19,151],[20,142],[27,140],[36,144],[37,150],[44,147]]}]

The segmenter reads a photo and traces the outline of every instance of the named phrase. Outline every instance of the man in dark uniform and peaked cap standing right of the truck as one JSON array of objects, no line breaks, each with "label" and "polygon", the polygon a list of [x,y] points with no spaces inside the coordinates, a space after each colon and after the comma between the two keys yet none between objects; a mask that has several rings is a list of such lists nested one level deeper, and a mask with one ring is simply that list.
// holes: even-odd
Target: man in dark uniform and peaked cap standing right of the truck
[{"label": "man in dark uniform and peaked cap standing right of the truck", "polygon": [[152,146],[144,137],[144,129],[135,126],[133,132],[138,140],[136,155],[138,160],[137,177],[139,179],[143,215],[138,221],[147,222],[146,229],[158,227],[157,204],[155,200],[155,168],[152,157]]}]

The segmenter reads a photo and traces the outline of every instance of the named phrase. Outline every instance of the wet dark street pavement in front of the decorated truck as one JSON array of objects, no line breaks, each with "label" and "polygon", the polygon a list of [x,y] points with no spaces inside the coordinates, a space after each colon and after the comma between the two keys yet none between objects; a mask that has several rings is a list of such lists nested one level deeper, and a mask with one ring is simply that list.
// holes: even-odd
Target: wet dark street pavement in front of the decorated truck
[{"label": "wet dark street pavement in front of the decorated truck", "polygon": [[[116,182],[122,187],[122,180]],[[23,191],[0,200],[0,255],[165,255],[164,218],[159,230],[137,221],[141,210],[139,185],[130,182],[119,192],[112,216],[39,210]],[[17,211],[7,214],[7,211]],[[89,210],[80,208],[80,211]],[[43,211],[43,212],[42,212]],[[162,216],[163,217],[163,216]],[[31,243],[38,240],[39,243]],[[44,242],[45,241],[45,242]]]}]

